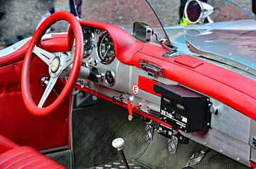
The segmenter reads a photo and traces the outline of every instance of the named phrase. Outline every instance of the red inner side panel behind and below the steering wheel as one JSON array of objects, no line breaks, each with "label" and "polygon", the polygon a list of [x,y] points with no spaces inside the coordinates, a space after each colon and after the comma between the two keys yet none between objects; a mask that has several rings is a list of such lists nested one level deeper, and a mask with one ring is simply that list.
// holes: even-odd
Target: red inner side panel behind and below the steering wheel
[{"label": "red inner side panel behind and below the steering wheel", "polygon": [[[55,40],[62,40],[63,48],[67,48],[67,35],[62,38],[51,38],[47,48],[57,52]],[[46,40],[44,40],[46,42]],[[49,45],[52,44],[52,45]],[[37,150],[45,150],[68,145],[68,107],[69,99],[52,115],[36,117],[26,109],[21,95],[21,70],[27,45],[19,52],[13,52],[0,58],[0,134],[21,146],[32,146]],[[35,102],[43,95],[45,88],[41,78],[48,76],[48,67],[41,59],[34,57],[31,69],[31,93]],[[63,83],[57,83],[55,89],[60,93]],[[46,104],[57,98],[51,93]]]}]

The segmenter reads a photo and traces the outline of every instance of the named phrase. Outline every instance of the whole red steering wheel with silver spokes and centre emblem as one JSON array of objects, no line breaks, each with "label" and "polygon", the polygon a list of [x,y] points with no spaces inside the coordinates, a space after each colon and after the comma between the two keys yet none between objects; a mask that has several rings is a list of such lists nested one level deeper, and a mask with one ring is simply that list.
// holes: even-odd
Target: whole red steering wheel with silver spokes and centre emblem
[{"label": "whole red steering wheel with silver spokes and centre emblem", "polygon": [[[56,54],[47,52],[44,49],[38,47],[38,44],[41,42],[41,37],[46,33],[46,30],[50,28],[51,25],[56,23],[57,21],[67,21],[70,23],[70,27],[73,29],[74,37],[75,37],[75,54],[64,54],[58,52]],[[52,112],[60,107],[62,103],[64,103],[65,99],[70,95],[75,82],[78,79],[78,75],[80,73],[80,68],[82,64],[82,53],[83,53],[83,35],[80,23],[77,18],[73,16],[71,13],[60,11],[57,13],[53,13],[53,15],[46,18],[46,20],[40,25],[36,33],[33,35],[28,50],[26,52],[26,56],[23,62],[23,69],[21,74],[21,93],[23,97],[23,101],[28,108],[28,110],[33,113],[33,115],[45,116],[49,115]],[[50,80],[48,85],[46,86],[46,90],[41,97],[41,100],[38,105],[34,103],[31,91],[30,91],[30,77],[31,77],[31,64],[33,61],[33,54],[36,54],[39,58],[45,62],[49,69]],[[69,74],[69,78],[63,91],[60,93],[58,98],[48,105],[48,107],[43,107],[50,91],[53,90],[53,86],[55,85],[58,77],[66,69],[70,64],[73,64],[72,69]]]}]

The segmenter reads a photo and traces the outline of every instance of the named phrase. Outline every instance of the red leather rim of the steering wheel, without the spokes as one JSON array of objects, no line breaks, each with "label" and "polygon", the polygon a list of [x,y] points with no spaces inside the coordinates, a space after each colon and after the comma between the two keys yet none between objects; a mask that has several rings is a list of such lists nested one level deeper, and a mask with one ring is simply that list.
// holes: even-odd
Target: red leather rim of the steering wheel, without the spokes
[{"label": "red leather rim of the steering wheel, without the spokes", "polygon": [[[37,45],[41,42],[41,37],[46,33],[46,30],[50,28],[51,25],[53,25],[58,21],[67,21],[68,23],[70,23],[70,27],[73,29],[73,35],[75,37],[75,54],[73,59],[73,66],[70,71],[68,81],[65,84],[65,87],[63,88],[63,91],[60,93],[58,98],[47,107],[38,107],[38,105],[34,103],[33,98],[31,96],[31,91],[30,91],[30,78],[31,78],[30,72],[31,72],[31,64],[33,61],[33,52],[36,49]],[[53,13],[53,15],[46,18],[46,20],[43,21],[43,23],[36,30],[36,32],[34,33],[28,45],[28,50],[24,58],[23,69],[21,73],[21,93],[22,93],[23,101],[26,107],[28,108],[29,112],[31,112],[33,115],[46,116],[55,112],[55,110],[57,110],[60,107],[60,105],[64,103],[65,99],[70,95],[73,89],[73,86],[75,85],[75,82],[77,81],[78,75],[80,73],[80,68],[82,64],[82,53],[83,53],[82,43],[83,43],[83,35],[82,35],[82,28],[80,26],[80,23],[78,19],[75,18],[75,16],[73,16],[71,13],[66,11]],[[45,60],[43,59],[43,61]],[[50,64],[51,63],[49,62],[49,65],[48,65],[49,71],[52,70],[50,68]],[[61,66],[61,64],[59,65]],[[60,66],[58,66],[58,69],[60,68]]]}]

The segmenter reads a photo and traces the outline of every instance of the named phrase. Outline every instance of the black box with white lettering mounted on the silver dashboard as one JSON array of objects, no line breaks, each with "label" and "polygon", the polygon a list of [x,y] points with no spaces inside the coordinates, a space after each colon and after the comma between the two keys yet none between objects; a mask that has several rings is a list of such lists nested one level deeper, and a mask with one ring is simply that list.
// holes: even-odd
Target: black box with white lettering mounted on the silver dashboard
[{"label": "black box with white lettering mounted on the silver dashboard", "polygon": [[209,99],[205,95],[178,85],[155,84],[161,93],[160,120],[173,129],[197,132],[210,126]]}]

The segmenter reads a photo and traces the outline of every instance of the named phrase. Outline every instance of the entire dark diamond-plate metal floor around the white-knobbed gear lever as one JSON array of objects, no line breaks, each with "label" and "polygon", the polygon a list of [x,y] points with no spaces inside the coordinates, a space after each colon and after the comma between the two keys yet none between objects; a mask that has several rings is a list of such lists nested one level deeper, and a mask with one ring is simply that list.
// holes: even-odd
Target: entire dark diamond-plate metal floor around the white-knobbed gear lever
[{"label": "entire dark diamond-plate metal floor around the white-knobbed gear lever", "polygon": [[143,168],[142,166],[152,169],[184,168],[193,153],[201,150],[207,152],[206,156],[201,163],[193,165],[193,168],[247,168],[194,141],[178,144],[176,153],[171,154],[168,139],[154,132],[153,128],[142,120],[134,119],[129,122],[127,116],[127,110],[105,100],[73,112],[76,168],[124,168],[122,163],[117,162],[121,161],[117,150],[112,148],[112,140],[117,137],[122,137],[126,141],[124,153],[133,169]]}]

